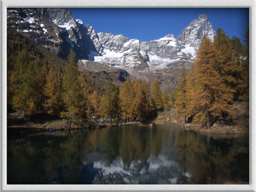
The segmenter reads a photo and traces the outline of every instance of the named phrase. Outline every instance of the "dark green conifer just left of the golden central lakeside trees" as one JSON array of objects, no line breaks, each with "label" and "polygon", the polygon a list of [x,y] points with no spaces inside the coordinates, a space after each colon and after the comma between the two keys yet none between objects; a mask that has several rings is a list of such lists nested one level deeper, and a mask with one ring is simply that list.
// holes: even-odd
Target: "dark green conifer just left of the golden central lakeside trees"
[{"label": "dark green conifer just left of the golden central lakeside trees", "polygon": [[100,111],[105,116],[105,118],[110,117],[110,123],[112,123],[113,118],[118,116],[119,112],[119,90],[118,88],[111,82],[108,81],[108,86],[106,87],[105,95],[103,95]]}]

